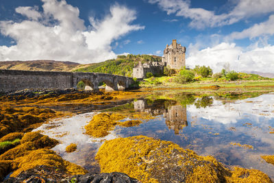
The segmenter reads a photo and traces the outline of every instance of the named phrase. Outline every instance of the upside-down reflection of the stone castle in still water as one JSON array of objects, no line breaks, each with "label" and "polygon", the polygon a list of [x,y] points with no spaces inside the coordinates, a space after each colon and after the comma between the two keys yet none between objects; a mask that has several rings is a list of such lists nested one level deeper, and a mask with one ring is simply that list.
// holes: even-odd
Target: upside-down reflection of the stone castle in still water
[{"label": "upside-down reflection of the stone castle in still water", "polygon": [[134,110],[147,112],[152,115],[163,114],[163,117],[166,119],[166,126],[174,130],[175,134],[179,134],[179,130],[188,125],[186,107],[175,105],[175,101],[171,101],[169,106],[166,106],[164,101],[166,100],[156,100],[153,103],[149,103],[147,99],[139,99],[134,101]]}]

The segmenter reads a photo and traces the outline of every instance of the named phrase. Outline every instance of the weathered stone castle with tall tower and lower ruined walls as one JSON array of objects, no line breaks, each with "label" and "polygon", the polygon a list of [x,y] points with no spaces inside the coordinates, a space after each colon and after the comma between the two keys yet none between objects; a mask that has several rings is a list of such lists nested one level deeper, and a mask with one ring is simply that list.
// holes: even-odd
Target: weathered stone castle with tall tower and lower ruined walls
[{"label": "weathered stone castle with tall tower and lower ruined walls", "polygon": [[145,78],[147,73],[161,75],[164,72],[164,66],[169,69],[182,69],[186,66],[186,47],[182,47],[176,40],[172,40],[171,45],[166,45],[162,62],[138,62],[133,69],[133,77],[138,79]]}]

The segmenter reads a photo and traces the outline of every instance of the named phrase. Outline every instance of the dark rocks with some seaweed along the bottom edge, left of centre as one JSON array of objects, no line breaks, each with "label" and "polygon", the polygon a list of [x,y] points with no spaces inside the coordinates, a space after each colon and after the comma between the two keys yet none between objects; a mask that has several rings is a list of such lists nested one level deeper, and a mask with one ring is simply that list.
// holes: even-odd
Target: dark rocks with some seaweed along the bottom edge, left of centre
[{"label": "dark rocks with some seaweed along the bottom edge, left of centre", "polygon": [[4,182],[113,182],[113,183],[137,183],[138,180],[129,178],[125,173],[86,173],[85,175],[69,175],[56,167],[38,166],[29,169],[16,176],[8,178]]}]

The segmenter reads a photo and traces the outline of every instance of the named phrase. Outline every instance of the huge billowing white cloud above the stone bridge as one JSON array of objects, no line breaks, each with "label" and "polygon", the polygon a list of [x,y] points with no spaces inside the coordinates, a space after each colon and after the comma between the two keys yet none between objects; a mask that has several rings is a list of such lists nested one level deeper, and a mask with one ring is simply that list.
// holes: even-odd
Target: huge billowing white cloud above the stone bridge
[{"label": "huge billowing white cloud above the stone bridge", "polygon": [[27,16],[25,21],[0,21],[1,34],[16,42],[0,47],[0,60],[101,62],[116,57],[112,42],[145,28],[132,25],[136,12],[119,4],[112,5],[110,14],[101,20],[90,17],[90,26],[86,27],[78,8],[64,0],[42,1],[43,12],[36,7],[16,8],[16,12]]}]

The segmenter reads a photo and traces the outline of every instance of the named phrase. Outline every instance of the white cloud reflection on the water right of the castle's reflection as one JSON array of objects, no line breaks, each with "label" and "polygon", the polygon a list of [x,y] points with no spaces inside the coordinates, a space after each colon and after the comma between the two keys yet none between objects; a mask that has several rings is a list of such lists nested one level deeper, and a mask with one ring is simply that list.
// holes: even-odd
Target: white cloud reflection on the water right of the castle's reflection
[{"label": "white cloud reflection on the water right of the castle's reflection", "polygon": [[[196,108],[195,105],[188,106],[188,112],[195,114],[197,118],[208,119],[219,123],[236,123],[243,114],[253,114],[258,118],[264,116],[266,119],[274,117],[274,95],[267,94],[260,97],[243,99],[234,103],[225,103],[214,100],[212,106],[207,108]],[[194,116],[194,115],[191,115]],[[253,119],[254,120],[254,119]],[[259,121],[256,119],[256,121]]]}]

